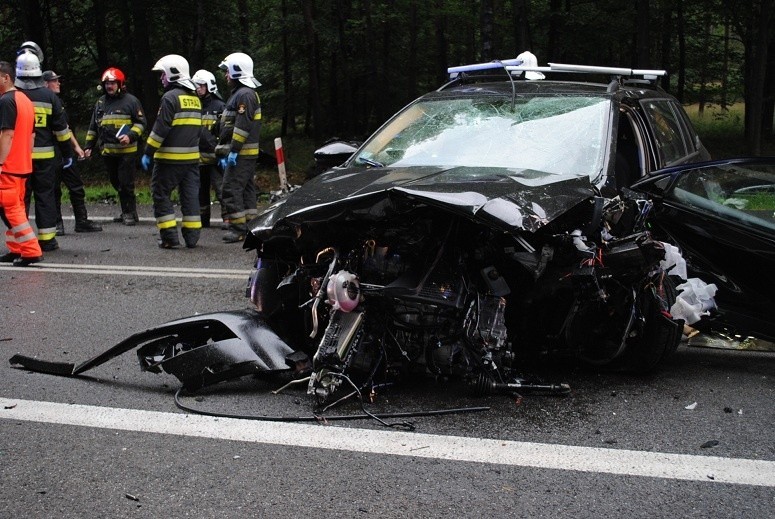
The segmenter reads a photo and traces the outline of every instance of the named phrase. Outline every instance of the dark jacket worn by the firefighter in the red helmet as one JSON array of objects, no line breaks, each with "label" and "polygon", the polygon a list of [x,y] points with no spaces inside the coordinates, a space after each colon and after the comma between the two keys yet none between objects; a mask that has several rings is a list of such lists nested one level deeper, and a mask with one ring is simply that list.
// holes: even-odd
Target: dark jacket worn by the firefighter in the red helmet
[{"label": "dark jacket worn by the firefighter in the red helmet", "polygon": [[[103,155],[120,156],[137,151],[137,141],[145,131],[145,113],[140,100],[128,92],[104,95],[94,105],[84,149],[102,147]],[[123,131],[122,131],[123,128]],[[129,136],[129,144],[118,141],[119,131]]]}]

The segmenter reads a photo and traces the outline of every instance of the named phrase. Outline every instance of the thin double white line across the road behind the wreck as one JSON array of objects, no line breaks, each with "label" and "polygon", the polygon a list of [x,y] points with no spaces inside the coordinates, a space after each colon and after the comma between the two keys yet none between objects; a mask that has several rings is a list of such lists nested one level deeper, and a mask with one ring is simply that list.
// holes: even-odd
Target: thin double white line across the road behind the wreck
[{"label": "thin double white line across the road behind the wreck", "polygon": [[[249,270],[236,269],[205,269],[188,267],[143,267],[133,265],[72,265],[66,263],[36,263],[25,270],[39,270],[43,272],[67,272],[71,274],[105,274],[119,276],[157,276],[157,277],[185,277],[185,278],[217,278],[217,279],[247,279]],[[0,270],[14,270],[23,272],[20,267],[4,264]]]}]

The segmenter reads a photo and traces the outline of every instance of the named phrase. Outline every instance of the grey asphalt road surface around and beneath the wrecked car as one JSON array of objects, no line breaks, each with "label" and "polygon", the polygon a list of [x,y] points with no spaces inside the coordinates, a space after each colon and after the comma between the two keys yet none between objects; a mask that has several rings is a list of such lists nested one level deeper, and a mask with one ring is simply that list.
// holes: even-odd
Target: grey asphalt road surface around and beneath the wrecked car
[{"label": "grey asphalt road surface around and beneath the wrecked car", "polygon": [[[82,362],[166,321],[247,306],[253,254],[156,247],[150,220],[68,233],[40,267],[0,266],[0,353]],[[215,211],[217,214],[217,209]],[[150,217],[142,208],[141,216]],[[134,353],[80,378],[0,368],[0,517],[772,517],[775,355],[682,346],[643,377],[541,373],[564,398],[475,398],[454,381],[377,395],[412,418],[275,423],[187,414],[179,382]],[[309,416],[302,389],[243,379],[186,398],[239,415]],[[357,413],[355,404],[337,410]],[[402,420],[387,420],[390,423]]]}]

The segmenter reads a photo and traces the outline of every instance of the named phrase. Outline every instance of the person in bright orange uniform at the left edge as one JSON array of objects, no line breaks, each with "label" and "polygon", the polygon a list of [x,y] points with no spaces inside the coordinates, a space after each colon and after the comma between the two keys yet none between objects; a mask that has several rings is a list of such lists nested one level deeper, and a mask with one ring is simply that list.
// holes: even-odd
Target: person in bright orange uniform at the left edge
[{"label": "person in bright orange uniform at the left edge", "polygon": [[24,207],[24,185],[32,174],[35,108],[14,87],[15,67],[0,61],[0,219],[8,227],[8,253],[0,262],[26,267],[43,260]]}]

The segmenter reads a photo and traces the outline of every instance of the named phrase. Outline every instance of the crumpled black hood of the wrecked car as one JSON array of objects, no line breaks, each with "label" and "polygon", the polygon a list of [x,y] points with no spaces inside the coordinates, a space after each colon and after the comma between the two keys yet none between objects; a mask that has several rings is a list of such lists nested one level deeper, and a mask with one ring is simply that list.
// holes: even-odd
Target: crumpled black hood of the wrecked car
[{"label": "crumpled black hood of the wrecked car", "polygon": [[490,222],[506,231],[534,232],[595,196],[586,175],[503,168],[346,168],[320,175],[250,222],[253,234],[334,219],[352,208],[403,197],[418,204]]}]

